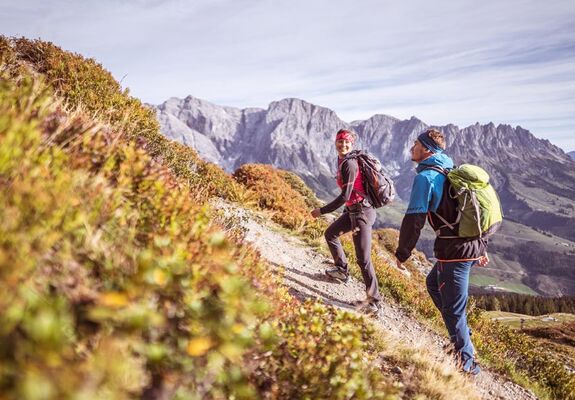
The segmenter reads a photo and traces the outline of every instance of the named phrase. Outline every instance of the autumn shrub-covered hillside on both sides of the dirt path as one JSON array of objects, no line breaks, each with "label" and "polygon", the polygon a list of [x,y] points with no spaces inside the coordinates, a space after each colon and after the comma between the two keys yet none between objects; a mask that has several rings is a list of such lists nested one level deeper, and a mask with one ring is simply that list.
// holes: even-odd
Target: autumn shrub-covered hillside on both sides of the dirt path
[{"label": "autumn shrub-covered hillside on both sides of the dirt path", "polygon": [[[201,161],[94,60],[50,43],[0,37],[0,74],[3,398],[401,393],[378,364],[396,353],[369,321],[295,301],[213,222],[208,200],[223,197],[319,243],[325,225],[300,181],[262,166],[234,179]],[[416,268],[425,257],[408,279],[389,263],[397,232],[377,240],[382,291],[441,329]],[[544,398],[574,398],[575,378],[534,340],[477,311],[471,323],[483,362]],[[412,397],[461,381],[418,365]]]}]

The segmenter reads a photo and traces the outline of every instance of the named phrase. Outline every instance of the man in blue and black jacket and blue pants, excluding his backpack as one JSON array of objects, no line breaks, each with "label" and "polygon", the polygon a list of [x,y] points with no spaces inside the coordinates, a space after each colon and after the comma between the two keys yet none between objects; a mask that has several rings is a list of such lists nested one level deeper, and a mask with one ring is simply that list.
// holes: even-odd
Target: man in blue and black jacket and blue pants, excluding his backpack
[{"label": "man in blue and black jacket and blue pants, excluding his backpack", "polygon": [[460,238],[457,232],[443,226],[441,218],[456,221],[458,213],[456,201],[449,196],[446,177],[446,172],[453,168],[453,161],[443,153],[444,150],[445,137],[435,129],[421,133],[411,147],[411,159],[418,163],[417,175],[401,223],[395,256],[397,266],[401,268],[401,263],[411,256],[426,219],[432,227],[441,227],[434,245],[437,262],[427,275],[427,291],[441,312],[449,332],[449,347],[455,352],[458,367],[475,375],[481,369],[474,359],[465,311],[469,273],[475,263],[484,266],[489,259],[484,239]]}]

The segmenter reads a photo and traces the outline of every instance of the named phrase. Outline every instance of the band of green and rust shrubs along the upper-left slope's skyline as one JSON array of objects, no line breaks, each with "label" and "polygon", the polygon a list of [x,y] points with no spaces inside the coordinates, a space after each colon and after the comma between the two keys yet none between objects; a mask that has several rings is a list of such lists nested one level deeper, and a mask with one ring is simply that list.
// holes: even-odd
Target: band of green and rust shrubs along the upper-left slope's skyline
[{"label": "band of green and rust shrubs along the upper-left slope's skyline", "polygon": [[154,111],[122,90],[120,84],[93,59],[63,51],[50,42],[8,39],[0,36],[2,70],[12,78],[22,74],[22,65],[44,77],[45,82],[64,100],[67,109],[79,109],[90,119],[112,126],[120,137],[136,140],[154,159],[188,180],[202,198],[220,196],[230,200],[245,196],[221,168],[201,160],[190,147],[165,138],[160,133]]}]

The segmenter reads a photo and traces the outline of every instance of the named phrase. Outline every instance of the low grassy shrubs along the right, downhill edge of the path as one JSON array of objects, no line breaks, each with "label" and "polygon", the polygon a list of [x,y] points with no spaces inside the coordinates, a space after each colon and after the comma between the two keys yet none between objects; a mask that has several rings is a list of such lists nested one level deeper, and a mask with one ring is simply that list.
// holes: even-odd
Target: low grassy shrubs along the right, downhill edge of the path
[{"label": "low grassy shrubs along the right, downhill edge of the path", "polygon": [[[251,177],[256,185],[258,176]],[[265,178],[257,184],[263,184]],[[262,196],[266,196],[262,194]],[[273,203],[271,211],[277,211]],[[302,221],[303,223],[303,221]],[[381,291],[389,298],[411,310],[432,328],[443,329],[441,317],[431,303],[425,289],[424,276],[418,264],[428,263],[425,255],[415,252],[406,263],[411,278],[406,278],[393,265],[393,252],[397,247],[398,232],[383,229],[375,232],[372,259]],[[313,239],[313,238],[310,238]],[[353,245],[349,238],[342,243],[348,259],[355,262]],[[320,243],[318,242],[318,246]],[[352,270],[359,277],[359,271]],[[565,369],[565,363],[555,357],[552,349],[546,350],[541,343],[527,335],[516,333],[496,321],[491,321],[484,312],[470,306],[469,322],[473,328],[473,340],[480,360],[491,367],[508,374],[518,382],[532,388],[541,398],[575,398],[575,376]]]}]

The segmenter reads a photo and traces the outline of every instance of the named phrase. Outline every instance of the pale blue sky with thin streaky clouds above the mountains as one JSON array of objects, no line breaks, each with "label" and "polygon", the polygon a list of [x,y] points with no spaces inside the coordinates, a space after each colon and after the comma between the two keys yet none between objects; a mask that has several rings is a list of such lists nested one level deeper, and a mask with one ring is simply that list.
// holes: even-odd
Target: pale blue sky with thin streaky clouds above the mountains
[{"label": "pale blue sky with thin streaky clouds above the mountains", "polygon": [[574,0],[0,0],[0,33],[93,57],[149,103],[297,97],[575,150]]}]

